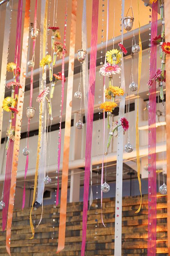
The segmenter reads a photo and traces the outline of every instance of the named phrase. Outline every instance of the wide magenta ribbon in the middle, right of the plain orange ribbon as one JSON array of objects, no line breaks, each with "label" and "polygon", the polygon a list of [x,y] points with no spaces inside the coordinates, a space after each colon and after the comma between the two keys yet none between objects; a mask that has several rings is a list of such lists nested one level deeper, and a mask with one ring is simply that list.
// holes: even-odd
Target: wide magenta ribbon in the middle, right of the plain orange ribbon
[{"label": "wide magenta ribbon in the middle, right of the plain orange ribbon", "polygon": [[87,136],[85,150],[85,175],[84,175],[84,195],[83,195],[83,225],[82,225],[82,250],[81,256],[85,254],[86,231],[87,231],[87,211],[88,192],[90,179],[91,143],[93,131],[94,112],[94,90],[96,80],[96,55],[97,55],[97,27],[98,27],[99,0],[93,0],[92,24],[91,24],[91,50],[90,50],[90,72],[88,87],[88,115],[87,115]]}]

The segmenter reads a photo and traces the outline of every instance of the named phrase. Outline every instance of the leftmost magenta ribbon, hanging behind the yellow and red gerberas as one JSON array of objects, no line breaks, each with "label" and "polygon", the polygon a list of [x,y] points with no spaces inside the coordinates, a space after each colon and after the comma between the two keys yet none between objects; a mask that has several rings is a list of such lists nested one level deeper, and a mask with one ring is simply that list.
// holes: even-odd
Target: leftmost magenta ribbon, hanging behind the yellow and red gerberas
[{"label": "leftmost magenta ribbon, hanging behind the yellow and red gerberas", "polygon": [[[23,4],[23,0],[19,0],[18,13],[17,13],[17,32],[16,32],[17,34],[16,34],[16,42],[15,42],[15,63],[16,63],[16,66],[18,67],[20,65],[22,4]],[[19,81],[18,76],[17,76],[17,81]],[[18,94],[18,86],[15,86],[15,94]],[[13,126],[15,126],[15,121],[16,121],[16,113],[14,113],[14,118],[12,119]],[[7,155],[6,155],[5,180],[4,180],[4,190],[3,190],[3,201],[5,203],[5,208],[3,208],[2,210],[2,230],[5,230],[7,214],[8,214],[13,148],[14,148],[14,141],[9,140],[9,146],[8,146]]]}]

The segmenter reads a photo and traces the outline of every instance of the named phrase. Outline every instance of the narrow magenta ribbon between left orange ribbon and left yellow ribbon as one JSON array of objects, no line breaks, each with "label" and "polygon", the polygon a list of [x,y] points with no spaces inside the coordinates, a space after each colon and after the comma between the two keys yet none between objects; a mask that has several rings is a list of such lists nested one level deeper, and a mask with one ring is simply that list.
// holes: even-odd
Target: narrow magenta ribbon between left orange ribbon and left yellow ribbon
[{"label": "narrow magenta ribbon between left orange ribbon and left yellow ribbon", "polygon": [[[37,28],[37,0],[35,5],[35,12],[34,12],[34,30],[36,30],[36,28]],[[32,56],[35,55],[35,47],[36,47],[36,39],[33,39]],[[34,76],[34,67],[31,67],[30,100],[29,100],[30,108],[32,107],[33,76]],[[27,145],[26,145],[28,149],[29,149],[29,124],[30,124],[30,119],[28,119]],[[26,174],[28,170],[28,161],[29,161],[29,155],[26,156],[22,209],[24,209],[24,206],[25,206],[25,180],[26,180]]]}]

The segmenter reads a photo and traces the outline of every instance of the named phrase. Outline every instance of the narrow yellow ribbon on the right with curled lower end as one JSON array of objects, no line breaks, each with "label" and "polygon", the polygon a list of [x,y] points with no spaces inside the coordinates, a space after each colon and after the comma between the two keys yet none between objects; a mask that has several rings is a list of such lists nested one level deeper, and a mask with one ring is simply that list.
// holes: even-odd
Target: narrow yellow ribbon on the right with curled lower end
[{"label": "narrow yellow ribbon on the right with curled lower end", "polygon": [[[138,19],[139,19],[139,0],[137,0],[137,5],[138,5]],[[139,21],[139,62],[138,62],[138,106],[137,106],[137,115],[136,115],[136,158],[137,158],[137,165],[138,165],[138,181],[139,181],[139,190],[141,193],[141,203],[136,211],[138,213],[141,210],[141,205],[142,205],[142,192],[141,192],[141,178],[140,178],[140,155],[139,155],[139,127],[138,127],[138,122],[139,122],[139,88],[140,88],[140,80],[141,80],[141,66],[142,66],[142,42],[141,42],[141,25]]]}]

